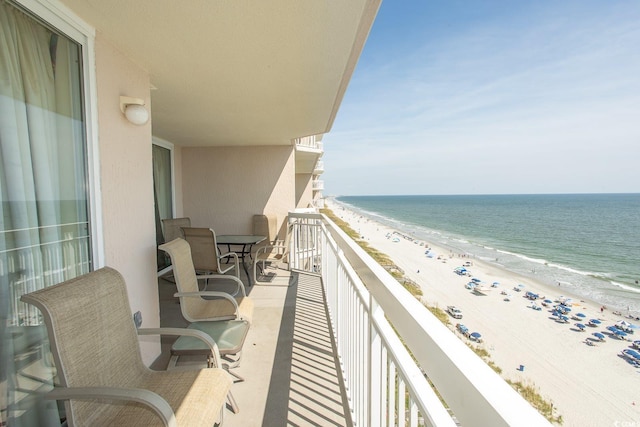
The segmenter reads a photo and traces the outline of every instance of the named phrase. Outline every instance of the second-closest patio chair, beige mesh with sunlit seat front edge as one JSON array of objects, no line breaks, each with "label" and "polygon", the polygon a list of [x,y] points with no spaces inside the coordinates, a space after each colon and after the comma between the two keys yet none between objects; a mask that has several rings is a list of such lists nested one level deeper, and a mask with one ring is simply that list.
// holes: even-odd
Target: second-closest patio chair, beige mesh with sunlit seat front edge
[{"label": "second-closest patio chair, beige mesh with sunlit seat front edge", "polygon": [[[178,292],[174,296],[180,298],[180,310],[189,322],[243,319],[251,323],[253,316],[253,301],[247,297],[244,284],[240,279],[231,275],[207,274],[196,276],[191,248],[184,239],[174,239],[164,243],[159,248],[171,257],[173,274],[176,279]],[[198,279],[231,280],[237,284],[233,297],[227,292],[200,291]],[[213,298],[213,299],[205,299]]]}]

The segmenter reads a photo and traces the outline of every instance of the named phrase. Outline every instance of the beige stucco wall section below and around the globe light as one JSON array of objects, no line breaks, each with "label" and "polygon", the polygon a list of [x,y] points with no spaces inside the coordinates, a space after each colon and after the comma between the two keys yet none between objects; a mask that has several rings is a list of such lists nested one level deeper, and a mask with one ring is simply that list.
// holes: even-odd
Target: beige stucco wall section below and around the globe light
[{"label": "beige stucco wall section below and around the globe light", "polygon": [[[159,326],[151,157],[151,123],[135,126],[120,112],[120,95],[150,97],[148,73],[96,34],[100,186],[105,265],[124,276],[133,312],[143,327]],[[159,354],[158,338],[145,338],[143,358]]]}]

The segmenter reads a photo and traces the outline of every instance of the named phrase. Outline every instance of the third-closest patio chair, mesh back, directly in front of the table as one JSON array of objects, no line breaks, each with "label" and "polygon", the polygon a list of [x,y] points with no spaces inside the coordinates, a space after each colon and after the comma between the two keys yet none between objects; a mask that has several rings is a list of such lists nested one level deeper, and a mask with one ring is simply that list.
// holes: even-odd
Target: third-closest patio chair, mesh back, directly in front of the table
[{"label": "third-closest patio chair, mesh back, directly in front of the table", "polygon": [[[216,232],[211,228],[195,228],[183,227],[184,239],[191,247],[191,258],[196,271],[202,271],[206,274],[225,274],[235,269],[235,276],[240,279],[240,263],[238,254],[235,252],[227,252],[221,254],[216,241]],[[226,267],[222,266],[221,261],[233,260],[233,264]],[[202,275],[199,275],[198,278]]]}]

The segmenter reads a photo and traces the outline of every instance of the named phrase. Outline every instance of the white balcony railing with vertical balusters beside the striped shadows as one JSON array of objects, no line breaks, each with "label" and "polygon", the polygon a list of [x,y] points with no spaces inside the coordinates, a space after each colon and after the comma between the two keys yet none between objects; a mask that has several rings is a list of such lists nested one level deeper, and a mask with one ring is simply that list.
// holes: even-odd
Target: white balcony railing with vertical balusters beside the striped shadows
[{"label": "white balcony railing with vertical balusters beside the striped shadows", "polygon": [[289,222],[291,268],[322,277],[354,425],[454,426],[431,382],[462,425],[550,426],[328,218]]}]

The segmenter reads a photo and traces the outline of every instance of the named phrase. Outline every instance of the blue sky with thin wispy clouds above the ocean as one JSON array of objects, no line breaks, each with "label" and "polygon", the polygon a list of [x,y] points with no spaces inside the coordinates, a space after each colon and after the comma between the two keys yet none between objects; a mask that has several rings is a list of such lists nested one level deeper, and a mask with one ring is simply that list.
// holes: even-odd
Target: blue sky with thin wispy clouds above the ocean
[{"label": "blue sky with thin wispy clouds above the ocean", "polygon": [[384,0],[326,196],[640,192],[640,2]]}]

